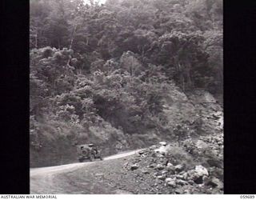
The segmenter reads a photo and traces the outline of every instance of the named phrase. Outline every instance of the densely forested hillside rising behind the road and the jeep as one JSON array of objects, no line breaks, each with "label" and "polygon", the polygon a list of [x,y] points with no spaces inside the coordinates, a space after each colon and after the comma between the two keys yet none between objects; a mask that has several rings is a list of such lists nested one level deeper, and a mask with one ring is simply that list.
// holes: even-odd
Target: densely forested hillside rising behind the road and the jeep
[{"label": "densely forested hillside rising behind the road and the jeep", "polygon": [[30,0],[31,165],[211,134],[222,73],[221,0]]}]

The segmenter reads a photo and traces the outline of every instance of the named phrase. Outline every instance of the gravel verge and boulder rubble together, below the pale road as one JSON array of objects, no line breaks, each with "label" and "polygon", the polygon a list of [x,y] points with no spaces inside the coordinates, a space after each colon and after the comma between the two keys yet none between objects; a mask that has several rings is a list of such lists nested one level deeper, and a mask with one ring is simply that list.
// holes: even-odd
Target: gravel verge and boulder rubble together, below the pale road
[{"label": "gravel verge and boulder rubble together, below the pale road", "polygon": [[223,194],[222,137],[160,142],[54,176],[50,194]]}]

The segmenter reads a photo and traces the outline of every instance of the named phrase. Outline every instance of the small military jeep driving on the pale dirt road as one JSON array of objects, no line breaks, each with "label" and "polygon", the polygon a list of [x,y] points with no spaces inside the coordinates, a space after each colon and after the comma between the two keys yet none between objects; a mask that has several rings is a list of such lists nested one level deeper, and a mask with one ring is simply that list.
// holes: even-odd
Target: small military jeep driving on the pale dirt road
[{"label": "small military jeep driving on the pale dirt road", "polygon": [[98,147],[94,144],[78,145],[77,150],[79,162],[83,162],[86,159],[94,161],[96,158],[102,160],[101,150],[98,150]]}]

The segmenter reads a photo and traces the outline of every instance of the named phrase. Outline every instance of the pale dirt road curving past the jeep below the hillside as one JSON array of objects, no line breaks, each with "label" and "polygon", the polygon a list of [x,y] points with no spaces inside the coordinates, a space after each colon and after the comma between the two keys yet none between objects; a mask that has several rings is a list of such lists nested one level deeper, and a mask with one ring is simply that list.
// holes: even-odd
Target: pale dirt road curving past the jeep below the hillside
[{"label": "pale dirt road curving past the jeep below the hillside", "polygon": [[[142,149],[141,149],[142,150]],[[137,153],[140,150],[132,150],[123,152],[121,154],[115,154],[103,159],[104,162],[106,160],[112,160],[117,158],[123,158],[132,154]],[[99,162],[99,161],[95,161]],[[49,166],[49,167],[40,167],[40,168],[31,168],[30,169],[30,193],[31,194],[54,194],[59,193],[58,190],[58,180],[54,178],[58,174],[66,174],[68,172],[78,170],[83,166],[90,166],[94,162],[78,162],[72,163],[62,166]]]}]

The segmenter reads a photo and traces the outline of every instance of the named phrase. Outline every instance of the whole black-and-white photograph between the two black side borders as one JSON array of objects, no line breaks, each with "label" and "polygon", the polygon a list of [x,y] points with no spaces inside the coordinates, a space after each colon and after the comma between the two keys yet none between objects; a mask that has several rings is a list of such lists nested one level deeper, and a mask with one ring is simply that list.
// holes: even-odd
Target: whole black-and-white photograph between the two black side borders
[{"label": "whole black-and-white photograph between the two black side borders", "polygon": [[30,194],[224,194],[222,0],[30,0]]}]

